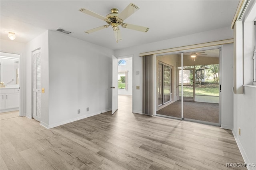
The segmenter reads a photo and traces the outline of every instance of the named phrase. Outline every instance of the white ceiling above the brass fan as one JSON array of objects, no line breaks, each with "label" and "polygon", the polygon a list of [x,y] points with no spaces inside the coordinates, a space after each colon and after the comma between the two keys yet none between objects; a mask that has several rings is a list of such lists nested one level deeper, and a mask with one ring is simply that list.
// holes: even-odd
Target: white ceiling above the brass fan
[{"label": "white ceiling above the brass fan", "polygon": [[[125,23],[149,27],[147,33],[120,28],[122,40],[116,43],[112,28],[86,34],[84,31],[106,22],[78,10],[86,8],[102,16],[130,4],[140,10]],[[69,35],[110,49],[122,49],[145,43],[205,32],[230,26],[239,0],[0,0],[1,39],[8,31],[16,33],[15,42],[27,43],[46,30],[63,28]],[[60,33],[63,34],[63,33]]]}]

